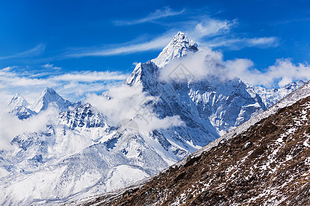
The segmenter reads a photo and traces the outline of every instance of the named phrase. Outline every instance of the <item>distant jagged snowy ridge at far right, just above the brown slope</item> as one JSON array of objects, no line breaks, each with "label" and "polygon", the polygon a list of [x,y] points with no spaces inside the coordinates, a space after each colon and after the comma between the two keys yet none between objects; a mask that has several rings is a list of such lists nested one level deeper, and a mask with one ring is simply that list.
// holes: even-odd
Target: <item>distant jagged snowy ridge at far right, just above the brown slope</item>
[{"label": "distant jagged snowy ridge at far right, just above the brown slope", "polygon": [[262,98],[262,102],[269,108],[292,91],[298,89],[304,83],[306,83],[304,80],[299,80],[298,82],[291,82],[280,89],[265,89],[264,87],[254,87],[254,89],[255,92],[260,95],[260,98]]}]

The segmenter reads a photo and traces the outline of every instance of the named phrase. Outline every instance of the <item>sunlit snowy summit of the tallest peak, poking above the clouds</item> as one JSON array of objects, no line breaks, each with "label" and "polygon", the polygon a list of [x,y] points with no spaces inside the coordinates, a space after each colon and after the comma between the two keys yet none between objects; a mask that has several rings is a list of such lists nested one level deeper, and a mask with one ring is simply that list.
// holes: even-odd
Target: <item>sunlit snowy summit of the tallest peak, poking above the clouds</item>
[{"label": "sunlit snowy summit of the tallest peak, poking above the clouds", "polygon": [[163,52],[157,58],[154,58],[152,62],[158,67],[165,67],[172,60],[186,56],[188,52],[197,51],[197,43],[187,38],[183,32],[178,32],[172,41],[163,49]]}]

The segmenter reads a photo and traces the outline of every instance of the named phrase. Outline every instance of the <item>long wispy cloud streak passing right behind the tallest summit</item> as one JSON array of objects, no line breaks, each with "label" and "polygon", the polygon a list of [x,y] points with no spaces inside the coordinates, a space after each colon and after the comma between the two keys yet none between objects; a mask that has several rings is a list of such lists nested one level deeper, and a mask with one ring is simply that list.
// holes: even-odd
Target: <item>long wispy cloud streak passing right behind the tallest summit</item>
[{"label": "long wispy cloud streak passing right behind the tallest summit", "polygon": [[203,42],[203,38],[206,36],[217,36],[224,32],[229,32],[231,27],[237,24],[236,19],[233,21],[220,21],[217,19],[210,19],[209,17],[200,16],[201,21],[190,21],[187,24],[180,23],[177,27],[172,28],[163,34],[160,34],[156,38],[146,40],[145,38],[131,41],[121,45],[108,45],[102,48],[89,47],[81,49],[71,49],[68,54],[64,56],[67,58],[81,58],[84,56],[115,56],[124,54],[134,54],[137,52],[147,52],[160,50],[165,47],[169,41],[172,40],[174,35],[181,30],[185,32],[190,38],[195,41]]}]

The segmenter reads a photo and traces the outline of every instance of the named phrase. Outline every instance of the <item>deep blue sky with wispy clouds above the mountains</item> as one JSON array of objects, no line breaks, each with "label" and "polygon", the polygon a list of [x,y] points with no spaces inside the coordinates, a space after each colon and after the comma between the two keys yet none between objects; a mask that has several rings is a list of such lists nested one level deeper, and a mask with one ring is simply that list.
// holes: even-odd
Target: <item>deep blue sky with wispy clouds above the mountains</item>
[{"label": "deep blue sky with wispy clouds above the mountains", "polygon": [[[223,52],[224,60],[250,59],[258,71],[279,59],[308,67],[309,8],[300,0],[1,1],[0,75],[25,83],[8,89],[0,80],[0,90],[7,97],[57,87],[70,97],[70,88],[86,82],[74,91],[79,97],[95,82],[89,91],[102,91],[121,82],[134,62],[155,58],[178,30]],[[64,83],[68,73],[75,81]],[[59,84],[50,83],[55,79]]]}]

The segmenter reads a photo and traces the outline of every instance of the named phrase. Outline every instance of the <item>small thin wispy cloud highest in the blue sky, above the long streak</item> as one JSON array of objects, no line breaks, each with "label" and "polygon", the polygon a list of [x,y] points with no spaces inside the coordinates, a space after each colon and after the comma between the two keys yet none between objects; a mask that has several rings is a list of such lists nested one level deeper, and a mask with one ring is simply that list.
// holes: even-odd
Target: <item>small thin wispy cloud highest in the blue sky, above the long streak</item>
[{"label": "small thin wispy cloud highest in the blue sky, above the long streak", "polygon": [[163,10],[156,10],[155,12],[152,12],[151,14],[141,18],[141,19],[134,19],[131,21],[114,21],[115,25],[135,25],[140,23],[147,23],[147,22],[154,22],[157,19],[162,19],[168,16],[177,16],[179,14],[182,14],[185,12],[185,10],[180,11],[174,11],[169,7],[163,8]]}]

